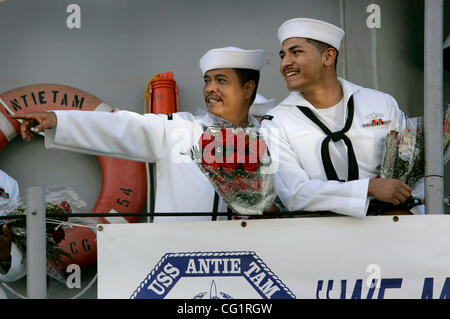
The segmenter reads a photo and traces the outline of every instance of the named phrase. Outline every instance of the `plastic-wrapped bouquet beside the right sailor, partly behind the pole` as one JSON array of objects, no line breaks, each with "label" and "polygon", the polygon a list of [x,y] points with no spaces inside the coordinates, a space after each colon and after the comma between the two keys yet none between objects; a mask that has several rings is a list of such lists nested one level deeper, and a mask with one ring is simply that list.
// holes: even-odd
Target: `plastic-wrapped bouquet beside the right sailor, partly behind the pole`
[{"label": "plastic-wrapped bouquet beside the right sailor, partly behind the pole", "polygon": [[[444,116],[444,163],[450,158],[450,107]],[[425,140],[423,117],[402,114],[399,127],[391,130],[384,143],[382,178],[396,178],[411,188],[425,175]]]}]

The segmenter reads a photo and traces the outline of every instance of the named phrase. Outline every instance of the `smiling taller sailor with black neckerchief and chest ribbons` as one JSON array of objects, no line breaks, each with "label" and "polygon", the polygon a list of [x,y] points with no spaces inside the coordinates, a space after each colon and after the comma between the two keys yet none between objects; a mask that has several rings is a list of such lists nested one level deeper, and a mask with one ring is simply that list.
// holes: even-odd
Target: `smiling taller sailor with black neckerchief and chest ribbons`
[{"label": "smiling taller sailor with black neckerchief and chest ribbons", "polygon": [[278,150],[275,188],[290,211],[365,217],[375,198],[398,205],[411,189],[380,174],[386,134],[401,117],[389,94],[337,77],[344,31],[297,18],[278,30],[280,72],[289,96],[270,110],[262,131]]}]

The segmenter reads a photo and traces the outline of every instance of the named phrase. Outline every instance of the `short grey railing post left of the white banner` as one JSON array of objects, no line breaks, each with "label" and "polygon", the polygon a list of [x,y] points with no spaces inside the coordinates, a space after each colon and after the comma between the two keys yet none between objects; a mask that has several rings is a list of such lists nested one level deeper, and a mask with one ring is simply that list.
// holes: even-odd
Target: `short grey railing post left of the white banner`
[{"label": "short grey railing post left of the white banner", "polygon": [[27,205],[27,296],[29,299],[47,298],[47,247],[44,189],[30,187]]}]

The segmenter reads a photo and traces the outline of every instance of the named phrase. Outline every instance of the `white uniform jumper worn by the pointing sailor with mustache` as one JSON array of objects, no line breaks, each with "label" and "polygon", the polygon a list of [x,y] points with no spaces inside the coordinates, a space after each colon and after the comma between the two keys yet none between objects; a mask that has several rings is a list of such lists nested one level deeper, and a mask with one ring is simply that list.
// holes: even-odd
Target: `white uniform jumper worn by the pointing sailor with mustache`
[{"label": "white uniform jumper worn by the pointing sailor with mustache", "polygon": [[[224,121],[194,116],[55,111],[58,125],[46,131],[47,148],[156,163],[155,212],[212,212],[215,190],[191,158],[205,128]],[[250,124],[258,121],[249,117]],[[219,212],[227,206],[220,198]],[[211,216],[155,217],[161,221],[211,220]]]}]

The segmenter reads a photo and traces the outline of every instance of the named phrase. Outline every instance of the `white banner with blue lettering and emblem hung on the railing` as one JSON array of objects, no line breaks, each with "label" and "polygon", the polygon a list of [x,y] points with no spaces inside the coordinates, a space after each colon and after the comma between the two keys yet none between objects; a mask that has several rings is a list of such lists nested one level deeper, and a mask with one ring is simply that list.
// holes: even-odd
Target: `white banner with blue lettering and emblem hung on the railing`
[{"label": "white banner with blue lettering and emblem hung on the railing", "polygon": [[99,298],[450,298],[450,216],[101,227]]}]

